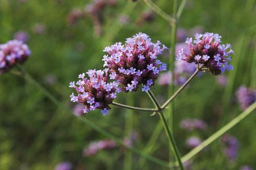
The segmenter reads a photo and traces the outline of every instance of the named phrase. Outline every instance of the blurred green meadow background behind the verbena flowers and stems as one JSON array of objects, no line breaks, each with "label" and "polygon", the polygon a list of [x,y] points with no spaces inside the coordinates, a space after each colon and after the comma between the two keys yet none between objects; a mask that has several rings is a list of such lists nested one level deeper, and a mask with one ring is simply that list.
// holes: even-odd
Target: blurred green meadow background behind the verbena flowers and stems
[{"label": "blurred green meadow background behind the verbena flowers and stems", "polygon": [[[96,2],[104,5],[92,11]],[[172,15],[172,0],[153,2]],[[203,141],[243,111],[236,96],[241,85],[256,88],[255,18],[255,0],[187,0],[178,22],[177,43],[196,33],[218,33],[223,43],[232,45],[235,55],[231,62],[234,70],[222,77],[224,81],[227,77],[226,83],[205,72],[174,99],[173,132],[181,156],[192,149],[187,139],[193,136]],[[74,90],[69,83],[78,81],[77,76],[88,69],[103,69],[104,48],[116,42],[124,44],[126,38],[139,32],[170,48],[170,24],[143,0],[0,0],[0,43],[15,38],[25,41],[32,52],[25,64],[28,74],[71,109],[75,103],[70,101]],[[169,50],[159,57],[167,63],[167,70],[173,68],[169,65]],[[179,87],[175,85],[174,90]],[[168,89],[168,85],[156,81],[151,91],[164,103]],[[154,108],[140,89],[119,93],[114,102]],[[129,144],[145,152],[152,149],[151,155],[169,161],[168,139],[159,116],[150,116],[152,113],[111,106],[106,116],[100,110],[82,116],[124,141],[133,134],[136,137]],[[201,119],[206,126],[186,130],[180,124],[183,119]],[[225,134],[236,141],[230,151],[232,159],[227,156],[224,136],[187,162],[190,165],[186,169],[242,170],[248,165],[255,170],[255,120],[254,111]],[[94,155],[83,152],[91,141],[105,139],[56,107],[22,77],[0,75],[0,170],[53,170],[66,161],[73,165],[72,170],[168,169],[118,145]],[[147,145],[148,141],[152,143]]]}]

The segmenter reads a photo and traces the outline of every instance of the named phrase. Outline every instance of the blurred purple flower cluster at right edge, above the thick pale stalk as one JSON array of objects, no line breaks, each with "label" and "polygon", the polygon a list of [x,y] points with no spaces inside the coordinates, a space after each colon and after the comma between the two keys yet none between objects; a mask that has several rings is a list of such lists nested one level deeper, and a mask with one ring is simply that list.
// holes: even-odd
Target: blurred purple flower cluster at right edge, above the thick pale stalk
[{"label": "blurred purple flower cluster at right edge, above the thick pale stalk", "polygon": [[252,103],[256,102],[256,89],[241,85],[237,90],[237,100],[242,110],[246,110]]}]

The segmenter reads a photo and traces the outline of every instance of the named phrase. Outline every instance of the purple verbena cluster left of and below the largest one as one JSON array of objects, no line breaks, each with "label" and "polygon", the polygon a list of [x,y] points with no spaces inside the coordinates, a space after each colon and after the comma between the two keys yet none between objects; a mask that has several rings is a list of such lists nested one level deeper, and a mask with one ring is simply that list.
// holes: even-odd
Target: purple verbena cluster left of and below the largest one
[{"label": "purple verbena cluster left of and below the largest one", "polygon": [[107,68],[104,71],[88,70],[86,74],[88,74],[89,79],[84,78],[85,74],[82,73],[78,76],[82,80],[70,83],[69,87],[75,88],[78,93],[78,96],[73,93],[70,95],[71,101],[85,105],[84,113],[101,109],[101,113],[104,116],[108,114],[110,110],[109,104],[116,98],[116,94],[120,92],[119,81],[108,83],[108,70]]}]

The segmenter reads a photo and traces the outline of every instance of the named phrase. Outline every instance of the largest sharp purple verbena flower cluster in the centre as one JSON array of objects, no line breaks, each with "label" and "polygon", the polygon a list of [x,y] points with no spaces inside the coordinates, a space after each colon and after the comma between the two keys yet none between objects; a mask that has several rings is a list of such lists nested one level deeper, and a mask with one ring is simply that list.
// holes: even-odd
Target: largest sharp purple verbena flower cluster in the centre
[{"label": "largest sharp purple verbena flower cluster in the centre", "polygon": [[139,85],[143,85],[142,91],[148,92],[150,86],[155,85],[155,79],[162,70],[166,70],[166,64],[157,59],[165,49],[160,47],[161,42],[151,42],[148,35],[139,33],[133,38],[127,38],[126,44],[121,42],[106,47],[110,54],[104,55],[105,64],[110,68],[110,79],[119,80],[121,90],[135,92]]}]

